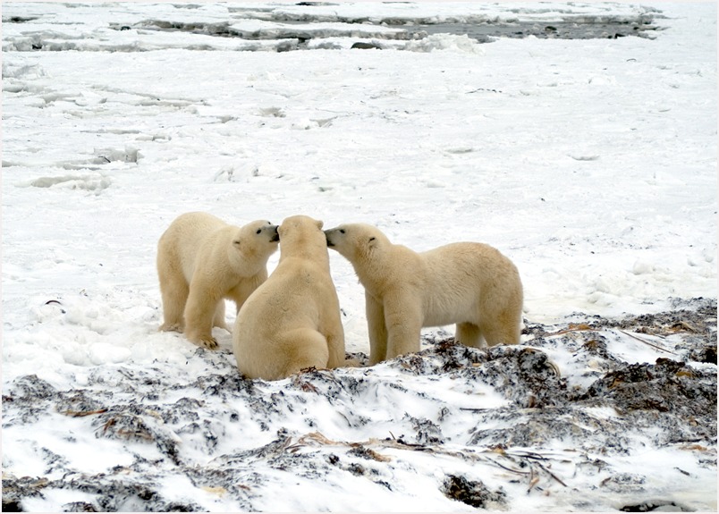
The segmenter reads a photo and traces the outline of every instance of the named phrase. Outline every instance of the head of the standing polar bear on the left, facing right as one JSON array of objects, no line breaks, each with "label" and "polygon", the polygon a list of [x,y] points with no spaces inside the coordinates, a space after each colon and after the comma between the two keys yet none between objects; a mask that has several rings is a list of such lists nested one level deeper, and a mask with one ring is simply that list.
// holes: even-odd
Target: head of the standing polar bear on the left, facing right
[{"label": "head of the standing polar bear on the left, facing right", "polygon": [[280,240],[277,225],[265,220],[233,227],[233,242],[228,249],[230,262],[235,270],[247,276],[256,274],[255,268],[265,266],[267,259],[277,250]]}]

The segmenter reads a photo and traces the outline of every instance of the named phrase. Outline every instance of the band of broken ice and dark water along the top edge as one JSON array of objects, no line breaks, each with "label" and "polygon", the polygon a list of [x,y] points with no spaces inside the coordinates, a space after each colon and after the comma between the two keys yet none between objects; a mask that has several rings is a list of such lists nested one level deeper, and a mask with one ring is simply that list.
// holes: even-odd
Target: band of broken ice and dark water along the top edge
[{"label": "band of broken ice and dark water along the top edge", "polygon": [[[584,10],[553,9],[551,4],[519,4],[497,10],[489,5],[444,5],[441,15],[414,9],[378,5],[373,15],[354,13],[348,4],[233,5],[226,8],[168,4],[152,17],[117,9],[107,26],[87,22],[97,7],[67,9],[57,5],[10,4],[4,14],[4,51],[120,51],[136,52],[168,46],[196,50],[285,52],[300,49],[393,48],[413,49],[407,41],[433,35],[467,35],[487,43],[496,38],[656,38],[664,16],[645,6],[627,5],[622,13],[607,14],[601,7]],[[350,8],[348,8],[350,7]],[[425,7],[426,9],[426,7]],[[419,10],[419,13],[416,12]],[[385,11],[385,13],[382,13]],[[472,13],[474,11],[474,13]],[[353,14],[354,13],[354,14]],[[52,21],[52,23],[48,23]],[[659,21],[659,23],[656,23]],[[56,29],[62,23],[66,29]],[[9,25],[8,25],[9,24]],[[52,29],[50,29],[52,27]],[[72,28],[72,29],[71,29]],[[108,30],[109,29],[109,30]],[[87,37],[87,31],[92,37]],[[113,34],[112,31],[125,32]],[[98,38],[99,33],[103,34]],[[183,36],[181,36],[181,34]],[[168,37],[169,36],[169,37]],[[223,40],[223,39],[229,40]]]}]

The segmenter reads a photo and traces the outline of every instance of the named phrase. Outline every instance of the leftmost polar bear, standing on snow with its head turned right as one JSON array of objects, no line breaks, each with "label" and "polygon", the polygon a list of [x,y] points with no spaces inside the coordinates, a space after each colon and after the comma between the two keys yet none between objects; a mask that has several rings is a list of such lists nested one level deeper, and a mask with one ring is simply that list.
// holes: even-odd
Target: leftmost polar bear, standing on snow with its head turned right
[{"label": "leftmost polar bear, standing on snow with its head turned right", "polygon": [[157,243],[165,323],[162,331],[217,348],[212,327],[227,329],[224,299],[237,309],[267,278],[267,259],[279,242],[277,225],[255,221],[242,227],[207,213],[178,216]]}]

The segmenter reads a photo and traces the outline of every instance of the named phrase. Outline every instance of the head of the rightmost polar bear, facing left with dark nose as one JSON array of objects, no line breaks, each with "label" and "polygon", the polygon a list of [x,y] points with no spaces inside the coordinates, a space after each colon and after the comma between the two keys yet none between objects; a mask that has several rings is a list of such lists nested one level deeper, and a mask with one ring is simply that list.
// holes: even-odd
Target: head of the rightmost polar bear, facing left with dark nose
[{"label": "head of the rightmost polar bear, facing left with dark nose", "polygon": [[378,228],[367,223],[345,223],[325,231],[327,247],[337,250],[352,265],[368,263],[392,243]]}]

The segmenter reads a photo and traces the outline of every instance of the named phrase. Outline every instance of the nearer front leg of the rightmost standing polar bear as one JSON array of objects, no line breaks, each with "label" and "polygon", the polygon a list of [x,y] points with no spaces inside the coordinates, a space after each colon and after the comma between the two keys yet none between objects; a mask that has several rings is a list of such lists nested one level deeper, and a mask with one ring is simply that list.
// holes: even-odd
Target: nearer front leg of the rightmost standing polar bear
[{"label": "nearer front leg of the rightmost standing polar bear", "polygon": [[388,296],[385,299],[386,358],[419,351],[423,321],[419,301],[417,296],[409,294]]}]

